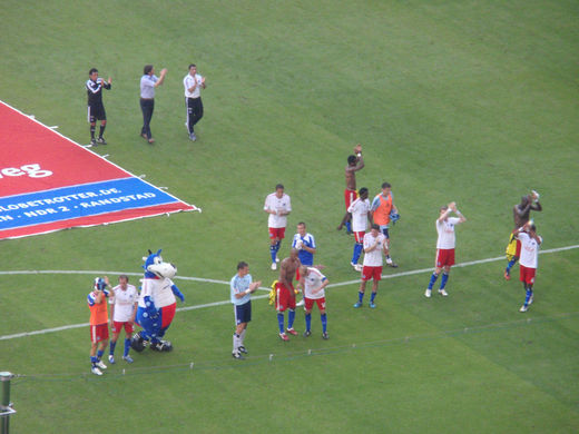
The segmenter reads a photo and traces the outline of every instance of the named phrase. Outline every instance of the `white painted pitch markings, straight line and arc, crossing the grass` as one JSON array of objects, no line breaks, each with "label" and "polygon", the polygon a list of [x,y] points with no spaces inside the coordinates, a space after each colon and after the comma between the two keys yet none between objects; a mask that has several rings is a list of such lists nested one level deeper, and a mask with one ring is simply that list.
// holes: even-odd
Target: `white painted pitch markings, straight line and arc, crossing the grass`
[{"label": "white painted pitch markings, straight line and arc, crossing the grass", "polygon": [[[558,247],[558,248],[551,248],[547,250],[539,251],[540,254],[551,254],[551,253],[558,253],[558,251],[565,251],[565,250],[572,250],[579,248],[579,245],[572,245],[572,246],[566,246],[566,247]],[[498,260],[506,260],[504,256],[499,256],[495,258],[487,258],[487,259],[479,259],[479,260],[471,260],[468,263],[461,263],[454,265],[454,267],[468,267],[471,265],[479,265],[479,264],[485,264],[485,263],[494,263]],[[403,277],[403,276],[411,276],[415,274],[422,274],[422,273],[430,273],[432,272],[432,267],[430,268],[422,268],[422,269],[414,269],[410,272],[402,272],[391,275],[383,275],[382,278],[394,278],[394,277]],[[31,275],[31,274],[80,274],[80,275],[97,275],[97,276],[104,276],[104,275],[119,275],[119,274],[126,274],[127,276],[143,276],[141,273],[119,273],[119,272],[97,272],[97,270],[16,270],[16,272],[0,272],[0,275]],[[195,280],[195,282],[204,282],[204,283],[213,283],[213,284],[222,284],[222,285],[229,285],[229,282],[226,280],[216,280],[216,279],[207,279],[203,277],[187,277],[187,276],[175,276],[175,279],[180,280]],[[360,279],[355,280],[347,280],[347,282],[340,282],[337,284],[330,284],[327,287],[338,287],[338,286],[345,286],[345,285],[353,285],[357,284]],[[268,287],[261,287],[261,290],[267,290],[269,292]],[[266,298],[268,295],[258,295],[255,297],[252,297],[253,299],[259,299],[259,298]],[[195,306],[187,306],[187,307],[179,307],[177,312],[185,312],[185,310],[194,310],[194,309],[202,309],[205,307],[214,307],[214,306],[222,306],[229,304],[230,300],[223,300],[223,302],[215,302],[215,303],[207,303],[203,305],[195,305]],[[53,327],[53,328],[45,328],[41,331],[35,331],[35,332],[23,332],[23,333],[17,333],[13,335],[4,335],[0,336],[0,341],[7,341],[7,339],[14,339],[17,337],[24,337],[24,336],[33,336],[33,335],[43,335],[46,333],[52,333],[52,332],[62,332],[68,331],[72,328],[80,328],[80,327],[88,327],[88,323],[84,324],[71,324],[67,326],[61,327]]]}]

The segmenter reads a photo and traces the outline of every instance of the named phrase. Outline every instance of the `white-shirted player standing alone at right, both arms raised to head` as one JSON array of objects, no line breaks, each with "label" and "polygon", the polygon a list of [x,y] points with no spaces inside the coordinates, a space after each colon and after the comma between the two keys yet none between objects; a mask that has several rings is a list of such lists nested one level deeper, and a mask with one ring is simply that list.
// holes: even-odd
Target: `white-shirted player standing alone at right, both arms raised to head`
[{"label": "white-shirted player standing alone at right, both arms raised to head", "polygon": [[[458,217],[449,217],[451,213],[454,213]],[[430,277],[429,287],[424,292],[425,297],[430,298],[432,296],[432,287],[442,270],[439,294],[443,297],[449,295],[444,287],[449,280],[450,267],[454,265],[454,247],[457,245],[454,226],[464,221],[467,221],[467,218],[457,209],[455,203],[452,201],[448,206],[440,208],[440,215],[436,219],[436,231],[439,233],[436,240],[436,262],[434,273],[432,273]]]}]

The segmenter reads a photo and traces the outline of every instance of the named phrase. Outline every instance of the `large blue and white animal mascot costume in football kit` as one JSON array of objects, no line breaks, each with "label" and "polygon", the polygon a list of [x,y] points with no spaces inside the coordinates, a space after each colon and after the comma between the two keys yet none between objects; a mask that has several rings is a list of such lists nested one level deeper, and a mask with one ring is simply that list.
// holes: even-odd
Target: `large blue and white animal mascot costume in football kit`
[{"label": "large blue and white animal mascot costume in football kit", "polygon": [[158,352],[170,352],[173,345],[163,337],[169,328],[177,302],[175,296],[185,302],[185,297],[179,288],[173,283],[171,278],[177,274],[177,268],[169,263],[165,263],[160,257],[160,249],[157,253],[149,250],[149,256],[144,257],[145,278],[139,295],[136,323],[143,327],[131,339],[130,346],[140,353],[147,345],[150,349]]}]

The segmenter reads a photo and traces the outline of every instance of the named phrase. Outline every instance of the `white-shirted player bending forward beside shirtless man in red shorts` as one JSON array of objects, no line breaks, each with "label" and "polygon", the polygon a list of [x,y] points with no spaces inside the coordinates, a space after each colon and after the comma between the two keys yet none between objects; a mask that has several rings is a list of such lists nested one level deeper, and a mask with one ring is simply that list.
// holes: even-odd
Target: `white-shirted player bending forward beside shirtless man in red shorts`
[{"label": "white-shirted player bending forward beside shirtless man in red shorts", "polygon": [[324,288],[330,283],[327,278],[314,267],[305,265],[300,266],[300,286],[304,290],[305,300],[305,332],[304,337],[312,335],[312,308],[314,303],[320,309],[320,319],[322,320],[322,338],[328,339],[327,335],[327,316],[325,313],[325,292]]}]

